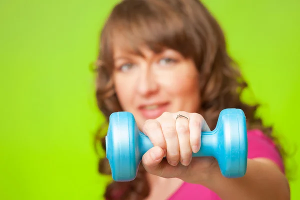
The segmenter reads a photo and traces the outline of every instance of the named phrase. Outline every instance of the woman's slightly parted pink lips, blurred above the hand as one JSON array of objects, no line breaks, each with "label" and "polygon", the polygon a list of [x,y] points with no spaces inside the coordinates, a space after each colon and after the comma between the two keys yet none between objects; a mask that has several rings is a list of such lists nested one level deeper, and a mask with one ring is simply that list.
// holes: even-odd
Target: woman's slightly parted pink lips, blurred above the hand
[{"label": "woman's slightly parted pink lips, blurred above the hand", "polygon": [[159,117],[163,112],[167,110],[169,103],[157,103],[151,105],[142,105],[138,109],[142,116],[147,119],[154,119]]}]

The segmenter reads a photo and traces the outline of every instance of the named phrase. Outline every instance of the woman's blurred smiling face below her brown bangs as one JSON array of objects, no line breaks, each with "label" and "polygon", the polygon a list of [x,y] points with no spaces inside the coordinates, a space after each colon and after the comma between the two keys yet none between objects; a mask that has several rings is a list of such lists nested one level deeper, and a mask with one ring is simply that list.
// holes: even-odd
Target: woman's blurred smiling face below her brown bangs
[{"label": "woman's blurred smiling face below her brown bangs", "polygon": [[165,49],[159,54],[143,48],[142,56],[114,48],[114,86],[124,111],[139,128],[164,111],[197,112],[200,104],[198,71],[191,59]]}]

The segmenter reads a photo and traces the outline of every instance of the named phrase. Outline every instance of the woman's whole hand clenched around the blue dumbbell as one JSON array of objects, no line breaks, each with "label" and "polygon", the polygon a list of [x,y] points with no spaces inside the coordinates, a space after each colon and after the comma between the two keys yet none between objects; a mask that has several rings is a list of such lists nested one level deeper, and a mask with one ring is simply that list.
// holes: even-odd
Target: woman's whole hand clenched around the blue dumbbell
[{"label": "woman's whole hand clenched around the blue dumbbell", "polygon": [[[178,114],[181,116],[176,119]],[[144,168],[151,174],[199,182],[199,177],[206,179],[210,169],[217,166],[213,157],[191,159],[192,152],[200,149],[201,131],[210,131],[198,113],[164,112],[156,119],[146,120],[142,129],[154,145],[142,157]]]}]

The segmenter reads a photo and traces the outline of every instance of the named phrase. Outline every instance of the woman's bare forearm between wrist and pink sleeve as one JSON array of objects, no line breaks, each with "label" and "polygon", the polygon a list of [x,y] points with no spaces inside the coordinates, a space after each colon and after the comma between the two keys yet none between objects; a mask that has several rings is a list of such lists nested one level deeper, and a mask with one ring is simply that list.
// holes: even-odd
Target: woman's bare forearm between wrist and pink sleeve
[{"label": "woman's bare forearm between wrist and pink sleeve", "polygon": [[290,199],[287,179],[279,167],[267,158],[248,159],[243,177],[226,178],[218,167],[214,167],[205,182],[197,183],[213,190],[223,200]]}]

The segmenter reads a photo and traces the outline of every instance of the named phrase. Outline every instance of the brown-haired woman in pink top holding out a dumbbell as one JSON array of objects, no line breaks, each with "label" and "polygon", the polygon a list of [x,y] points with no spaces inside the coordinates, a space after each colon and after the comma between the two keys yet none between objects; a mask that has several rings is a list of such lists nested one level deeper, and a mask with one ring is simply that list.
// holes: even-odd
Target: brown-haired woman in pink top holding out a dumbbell
[{"label": "brown-haired woman in pink top holding out a dumbbell", "polygon": [[[136,179],[112,182],[106,199],[289,199],[279,146],[254,119],[256,106],[240,101],[246,84],[203,4],[124,0],[113,8],[100,43],[99,109],[107,121],[112,112],[131,112],[154,144]],[[200,132],[213,129],[229,107],[247,118],[248,166],[241,178],[224,178],[213,158],[191,159]],[[102,173],[109,169],[106,159],[99,166]]]}]

